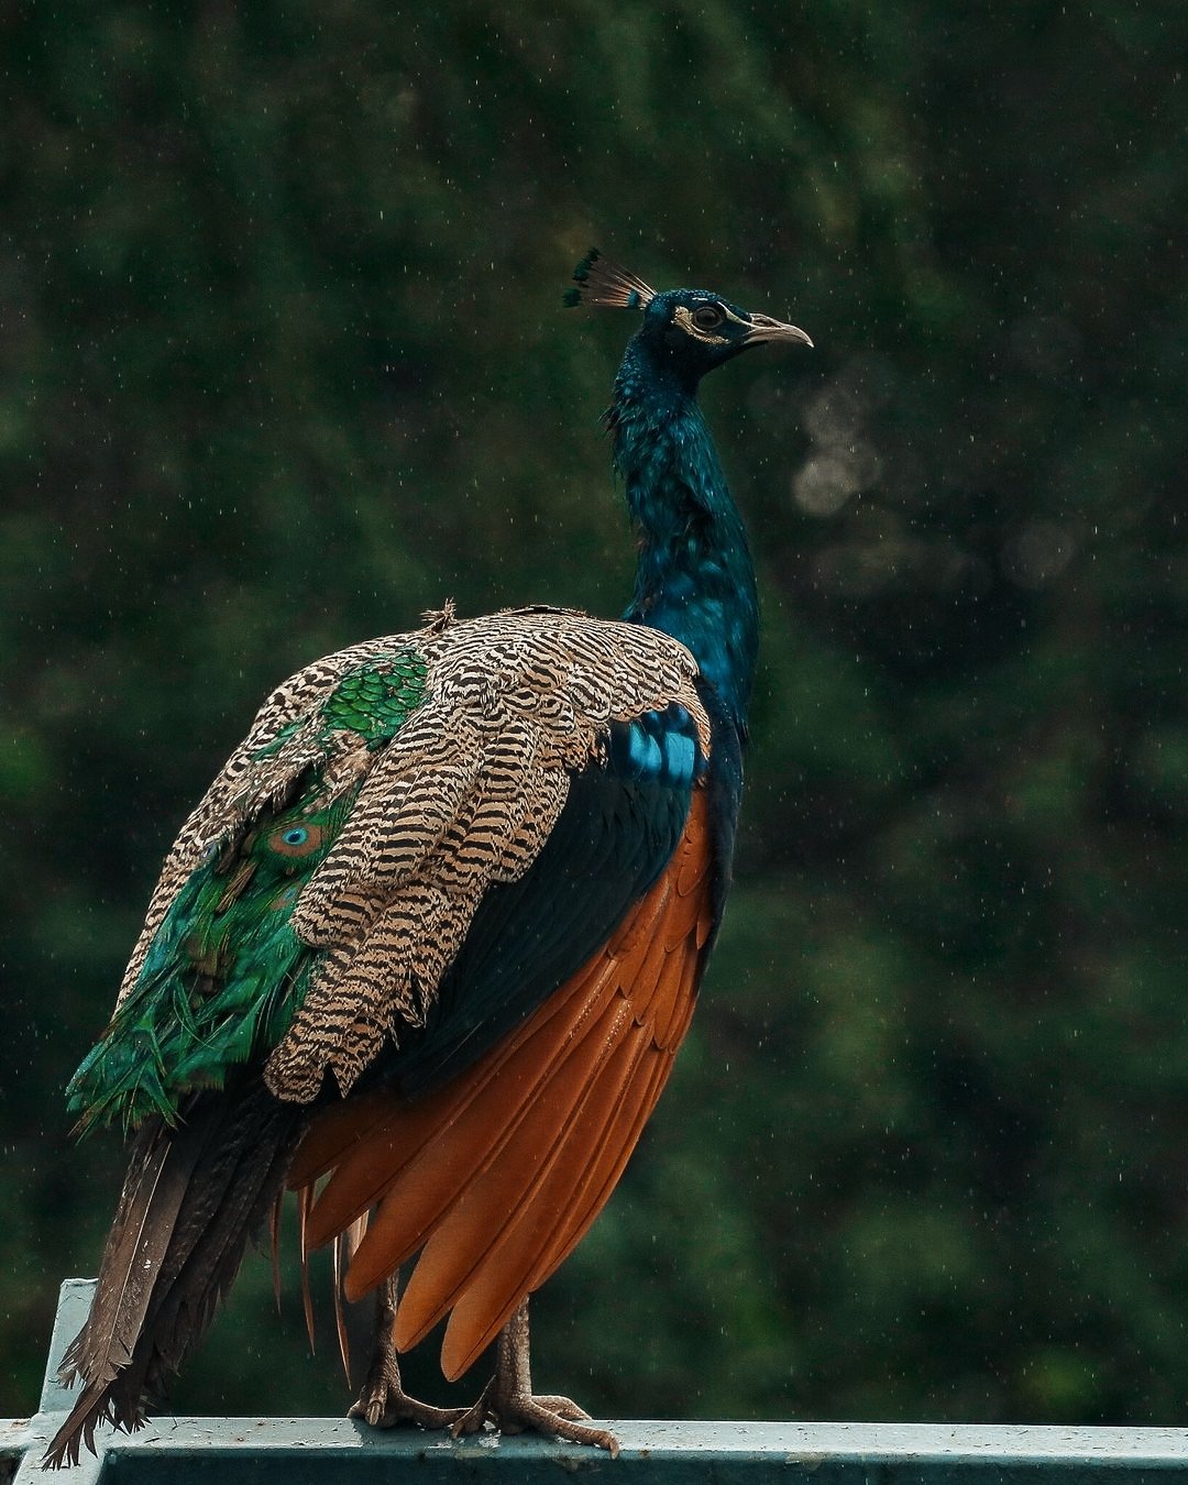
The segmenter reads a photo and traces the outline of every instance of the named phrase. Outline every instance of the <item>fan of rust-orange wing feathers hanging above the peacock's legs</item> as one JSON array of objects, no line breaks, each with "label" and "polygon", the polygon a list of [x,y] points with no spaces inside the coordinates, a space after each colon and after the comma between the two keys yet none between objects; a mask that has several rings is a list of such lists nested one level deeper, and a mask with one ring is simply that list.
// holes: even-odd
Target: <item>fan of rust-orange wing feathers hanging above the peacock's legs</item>
[{"label": "fan of rust-orange wing feathers hanging above the peacock's legs", "polygon": [[420,1250],[396,1344],[451,1311],[459,1377],[606,1204],[689,1026],[713,928],[708,800],[603,949],[487,1057],[408,1102],[370,1093],[310,1129],[290,1184],[330,1172],[309,1216],[322,1244],[374,1207],[346,1276],[358,1298]]}]

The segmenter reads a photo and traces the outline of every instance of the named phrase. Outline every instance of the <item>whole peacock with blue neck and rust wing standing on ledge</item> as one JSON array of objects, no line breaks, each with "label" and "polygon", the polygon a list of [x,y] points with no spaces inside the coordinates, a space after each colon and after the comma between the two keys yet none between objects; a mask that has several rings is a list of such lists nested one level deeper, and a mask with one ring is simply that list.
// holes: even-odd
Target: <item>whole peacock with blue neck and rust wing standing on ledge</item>
[{"label": "whole peacock with blue neck and rust wing standing on ledge", "polygon": [[[181,827],[79,1127],[131,1157],[49,1466],[140,1427],[297,1192],[301,1258],[374,1292],[352,1414],[616,1452],[535,1396],[527,1302],[610,1195],[689,1026],[722,916],[756,644],[754,570],[696,404],[707,371],[809,337],[593,249],[566,301],[636,310],[606,423],[631,603],[460,619],[285,680]],[[419,1256],[417,1256],[419,1255]],[[398,1276],[416,1258],[407,1285]],[[469,1409],[408,1396],[497,1342]]]}]

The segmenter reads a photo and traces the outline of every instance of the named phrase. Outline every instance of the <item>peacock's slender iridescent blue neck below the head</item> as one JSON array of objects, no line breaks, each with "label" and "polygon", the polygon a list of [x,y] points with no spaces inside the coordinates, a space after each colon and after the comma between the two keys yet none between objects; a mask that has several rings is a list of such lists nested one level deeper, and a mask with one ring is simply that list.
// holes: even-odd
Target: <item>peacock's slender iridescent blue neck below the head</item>
[{"label": "peacock's slender iridescent blue neck below the head", "polygon": [[696,383],[658,365],[636,339],[615,379],[607,420],[640,548],[624,618],[686,644],[741,726],[754,680],[759,597]]}]

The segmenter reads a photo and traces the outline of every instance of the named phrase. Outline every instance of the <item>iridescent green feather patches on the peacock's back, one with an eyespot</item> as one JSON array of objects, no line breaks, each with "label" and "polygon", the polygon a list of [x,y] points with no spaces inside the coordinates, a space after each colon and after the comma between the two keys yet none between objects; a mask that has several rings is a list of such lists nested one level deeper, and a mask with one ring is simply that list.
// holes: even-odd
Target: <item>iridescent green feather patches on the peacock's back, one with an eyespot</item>
[{"label": "iridescent green feather patches on the peacock's back, one with an eyespot", "polygon": [[[343,731],[380,748],[423,695],[416,652],[373,656],[257,756],[282,753],[310,720],[327,751]],[[293,931],[293,909],[359,789],[327,805],[316,766],[298,787],[296,800],[258,814],[178,891],[132,992],[67,1089],[80,1129],[128,1129],[150,1114],[172,1124],[186,1093],[223,1087],[232,1068],[263,1059],[284,1037],[316,962]]]}]

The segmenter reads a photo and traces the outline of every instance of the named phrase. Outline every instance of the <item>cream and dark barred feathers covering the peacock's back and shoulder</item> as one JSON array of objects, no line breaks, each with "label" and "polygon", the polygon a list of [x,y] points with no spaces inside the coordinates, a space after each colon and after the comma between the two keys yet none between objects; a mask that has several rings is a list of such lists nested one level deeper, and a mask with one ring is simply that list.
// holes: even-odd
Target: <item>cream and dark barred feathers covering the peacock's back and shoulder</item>
[{"label": "cream and dark barred feathers covering the peacock's back and shoulder", "polygon": [[[328,728],[325,707],[362,665],[413,653],[423,699],[391,741]],[[573,610],[508,610],[356,644],[298,671],[264,702],[165,863],[120,999],[171,903],[211,851],[285,800],[310,769],[318,799],[358,787],[291,924],[321,950],[304,1004],[264,1077],[309,1102],[333,1072],[346,1093],[388,1038],[420,1026],[487,888],[536,860],[612,722],[683,705],[710,751],[689,652],[656,630]]]}]

